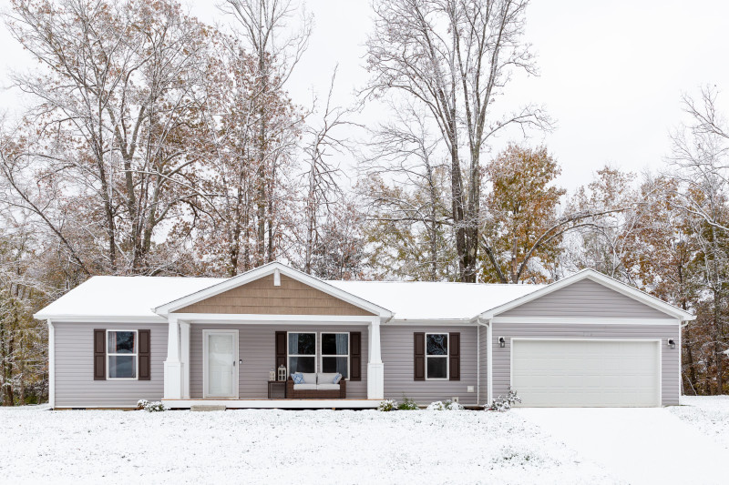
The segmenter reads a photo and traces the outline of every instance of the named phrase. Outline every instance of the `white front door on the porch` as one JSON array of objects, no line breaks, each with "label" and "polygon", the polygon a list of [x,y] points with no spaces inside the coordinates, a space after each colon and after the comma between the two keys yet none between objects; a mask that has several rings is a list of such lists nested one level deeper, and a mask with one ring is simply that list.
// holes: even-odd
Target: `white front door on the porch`
[{"label": "white front door on the porch", "polygon": [[238,397],[238,330],[202,330],[203,398]]}]

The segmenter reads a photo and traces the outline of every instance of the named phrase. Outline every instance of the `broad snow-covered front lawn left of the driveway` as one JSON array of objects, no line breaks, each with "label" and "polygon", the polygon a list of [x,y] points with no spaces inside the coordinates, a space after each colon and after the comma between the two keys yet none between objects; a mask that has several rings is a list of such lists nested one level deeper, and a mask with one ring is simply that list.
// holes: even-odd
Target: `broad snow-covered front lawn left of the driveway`
[{"label": "broad snow-covered front lawn left of the driveway", "polygon": [[0,483],[617,483],[515,412],[0,408]]}]

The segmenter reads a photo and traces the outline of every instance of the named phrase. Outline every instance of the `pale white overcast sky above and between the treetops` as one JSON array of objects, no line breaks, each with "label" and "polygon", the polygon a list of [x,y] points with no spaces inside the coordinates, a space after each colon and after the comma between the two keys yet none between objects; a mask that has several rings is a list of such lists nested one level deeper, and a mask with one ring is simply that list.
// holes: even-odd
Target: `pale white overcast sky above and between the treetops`
[{"label": "pale white overcast sky above and between the treetops", "polygon": [[[4,8],[8,0],[0,0]],[[189,3],[208,23],[228,22],[208,0]],[[369,0],[309,0],[314,15],[309,50],[289,84],[294,102],[308,105],[312,90],[324,96],[339,63],[337,102],[353,101],[363,86],[364,41],[371,28]],[[2,27],[0,79],[26,69],[28,57]],[[668,133],[682,119],[680,97],[710,84],[723,89],[729,114],[729,2],[722,0],[549,0],[528,9],[527,40],[540,76],[520,76],[498,100],[502,109],[536,102],[556,124],[534,133],[560,161],[560,183],[570,189],[590,181],[610,163],[640,171],[660,167]],[[17,93],[0,93],[3,109],[19,109]],[[375,115],[368,115],[370,117]],[[380,113],[379,116],[385,116]],[[367,121],[374,121],[368,119]],[[513,141],[521,141],[511,134]],[[508,137],[496,142],[497,149]]]}]

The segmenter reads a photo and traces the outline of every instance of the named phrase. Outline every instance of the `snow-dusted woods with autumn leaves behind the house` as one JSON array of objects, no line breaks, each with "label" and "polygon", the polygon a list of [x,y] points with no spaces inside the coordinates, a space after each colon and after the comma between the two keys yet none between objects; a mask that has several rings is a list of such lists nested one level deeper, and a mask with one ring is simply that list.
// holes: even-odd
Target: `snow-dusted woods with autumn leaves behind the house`
[{"label": "snow-dusted woods with autumn leaves behind the house", "polygon": [[[604,167],[574,193],[559,154],[494,108],[536,75],[524,0],[376,0],[350,106],[287,83],[313,22],[226,0],[219,30],[173,0],[13,0],[37,61],[0,126],[0,387],[47,399],[49,301],[93,275],[231,277],[281,260],[318,278],[524,284],[581,268],[681,308],[683,391],[722,394],[729,341],[729,125],[718,89],[681,102],[657,172]],[[355,120],[385,106],[376,125]],[[361,136],[352,136],[353,133]],[[620,140],[616,140],[620,143]],[[354,160],[355,163],[344,163]]]}]

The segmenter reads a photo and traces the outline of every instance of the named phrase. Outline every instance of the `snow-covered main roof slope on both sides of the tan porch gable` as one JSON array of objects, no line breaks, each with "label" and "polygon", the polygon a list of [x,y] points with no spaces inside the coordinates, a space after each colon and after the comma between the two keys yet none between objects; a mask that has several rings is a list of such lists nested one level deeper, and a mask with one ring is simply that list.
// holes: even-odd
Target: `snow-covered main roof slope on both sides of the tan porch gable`
[{"label": "snow-covered main roof slope on both sides of the tan porch gable", "polygon": [[[93,277],[36,313],[36,318],[134,318],[163,321],[157,308],[228,278]],[[544,285],[487,285],[404,281],[326,283],[387,308],[397,320],[462,320]]]}]

